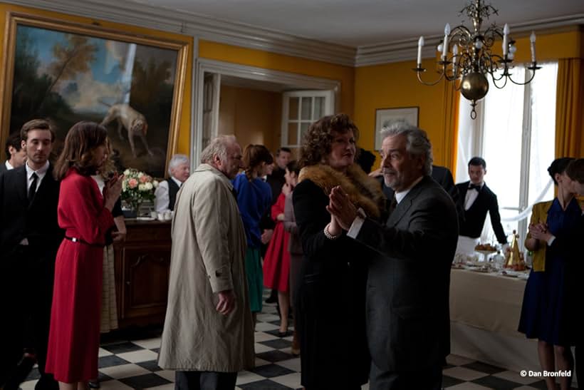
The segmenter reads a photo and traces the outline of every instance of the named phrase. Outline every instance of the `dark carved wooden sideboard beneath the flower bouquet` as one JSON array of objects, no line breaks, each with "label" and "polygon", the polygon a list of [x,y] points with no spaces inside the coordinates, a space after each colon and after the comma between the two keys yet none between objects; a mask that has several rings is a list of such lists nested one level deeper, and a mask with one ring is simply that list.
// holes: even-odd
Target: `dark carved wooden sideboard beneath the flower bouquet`
[{"label": "dark carved wooden sideboard beneath the flower bouquet", "polygon": [[170,222],[127,219],[115,247],[115,293],[120,329],[162,324],[170,269]]}]

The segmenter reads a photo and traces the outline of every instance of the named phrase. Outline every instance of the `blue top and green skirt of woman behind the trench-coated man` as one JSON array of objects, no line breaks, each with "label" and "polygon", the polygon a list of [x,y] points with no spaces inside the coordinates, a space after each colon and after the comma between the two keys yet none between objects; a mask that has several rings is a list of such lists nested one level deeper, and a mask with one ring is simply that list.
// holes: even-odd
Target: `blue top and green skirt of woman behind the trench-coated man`
[{"label": "blue top and green skirt of woman behind the trench-coated man", "polygon": [[261,270],[259,249],[261,230],[259,222],[272,202],[272,191],[268,183],[255,178],[248,180],[245,173],[240,173],[232,181],[237,193],[237,205],[247,237],[246,277],[249,289],[251,312],[261,312],[262,294],[264,292],[264,274]]}]

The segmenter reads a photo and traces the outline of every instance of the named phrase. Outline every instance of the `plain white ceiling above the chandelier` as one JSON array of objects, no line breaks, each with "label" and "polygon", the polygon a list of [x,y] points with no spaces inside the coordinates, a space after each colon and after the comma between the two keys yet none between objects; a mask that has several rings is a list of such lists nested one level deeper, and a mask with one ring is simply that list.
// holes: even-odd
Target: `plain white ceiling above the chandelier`
[{"label": "plain white ceiling above the chandelier", "polygon": [[[461,24],[466,0],[126,0],[218,21],[278,31],[344,46],[438,36]],[[486,1],[489,4],[489,1]],[[584,20],[584,0],[493,0],[499,15],[485,24],[520,28]],[[467,26],[470,26],[466,22]],[[511,34],[513,35],[513,34]]]}]

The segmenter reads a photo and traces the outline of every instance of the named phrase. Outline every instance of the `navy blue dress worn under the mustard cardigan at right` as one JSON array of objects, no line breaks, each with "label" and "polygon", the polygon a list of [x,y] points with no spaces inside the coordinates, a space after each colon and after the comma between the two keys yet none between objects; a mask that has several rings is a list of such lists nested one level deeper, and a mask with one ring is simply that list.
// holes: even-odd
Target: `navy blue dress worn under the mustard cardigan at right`
[{"label": "navy blue dress worn under the mustard cardigan at right", "polygon": [[[567,235],[578,225],[580,205],[575,198],[562,210],[558,198],[548,211],[548,230],[556,237]],[[573,254],[575,256],[575,254]],[[529,339],[539,339],[553,345],[570,346],[575,337],[570,324],[570,292],[565,257],[553,247],[546,248],[546,268],[529,274],[523,294],[523,306],[518,330]]]}]

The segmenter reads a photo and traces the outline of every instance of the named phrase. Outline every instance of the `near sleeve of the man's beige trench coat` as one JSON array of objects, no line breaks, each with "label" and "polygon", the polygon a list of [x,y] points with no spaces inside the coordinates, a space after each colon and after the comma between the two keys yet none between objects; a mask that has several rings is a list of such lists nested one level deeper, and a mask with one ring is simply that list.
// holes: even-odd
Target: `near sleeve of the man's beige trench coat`
[{"label": "near sleeve of the man's beige trench coat", "polygon": [[197,242],[213,292],[233,289],[228,239],[232,210],[226,207],[229,205],[226,195],[232,196],[225,185],[211,180],[206,188],[198,191],[192,211]]}]

